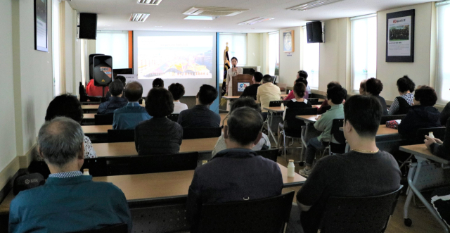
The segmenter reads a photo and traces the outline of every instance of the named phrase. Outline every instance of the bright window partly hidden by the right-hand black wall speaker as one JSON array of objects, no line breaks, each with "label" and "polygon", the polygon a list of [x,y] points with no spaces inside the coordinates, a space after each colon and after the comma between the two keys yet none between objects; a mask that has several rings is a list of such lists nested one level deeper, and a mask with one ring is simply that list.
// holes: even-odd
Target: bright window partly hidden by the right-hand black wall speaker
[{"label": "bright window partly hidden by the right-hand black wall speaker", "polygon": [[319,89],[319,43],[308,43],[307,27],[303,27],[303,70],[308,73],[308,85]]}]

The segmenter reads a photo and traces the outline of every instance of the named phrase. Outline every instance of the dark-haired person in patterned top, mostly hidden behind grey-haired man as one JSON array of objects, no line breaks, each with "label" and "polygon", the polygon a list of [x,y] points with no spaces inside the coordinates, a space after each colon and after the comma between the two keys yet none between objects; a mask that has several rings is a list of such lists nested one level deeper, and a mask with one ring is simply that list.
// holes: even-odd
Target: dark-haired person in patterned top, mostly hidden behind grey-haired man
[{"label": "dark-haired person in patterned top, mostly hidden behind grey-haired man", "polygon": [[[75,120],[81,124],[83,120],[83,109],[81,103],[79,103],[77,96],[72,96],[70,94],[62,94],[56,96],[53,101],[50,102],[49,107],[47,107],[47,112],[45,115],[45,121],[50,121],[56,117],[66,117]],[[89,137],[84,136],[84,158],[96,158],[97,154],[92,147],[92,142]],[[44,160],[39,156],[36,156],[36,160]]]}]

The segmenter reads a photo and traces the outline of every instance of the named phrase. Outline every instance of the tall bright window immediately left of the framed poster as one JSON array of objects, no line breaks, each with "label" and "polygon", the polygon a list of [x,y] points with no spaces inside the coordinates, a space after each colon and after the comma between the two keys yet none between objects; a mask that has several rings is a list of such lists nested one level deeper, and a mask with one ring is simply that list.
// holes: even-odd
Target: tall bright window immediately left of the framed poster
[{"label": "tall bright window immediately left of the framed poster", "polygon": [[359,83],[377,73],[377,17],[364,15],[352,20],[352,89],[359,91]]}]

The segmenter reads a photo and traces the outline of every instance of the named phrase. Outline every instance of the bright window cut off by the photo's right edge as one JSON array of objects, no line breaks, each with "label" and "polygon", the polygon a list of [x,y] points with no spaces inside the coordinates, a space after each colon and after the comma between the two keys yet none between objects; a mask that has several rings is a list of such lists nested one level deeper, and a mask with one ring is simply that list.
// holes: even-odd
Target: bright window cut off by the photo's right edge
[{"label": "bright window cut off by the photo's right edge", "polygon": [[450,101],[450,1],[437,6],[437,82],[438,102]]}]

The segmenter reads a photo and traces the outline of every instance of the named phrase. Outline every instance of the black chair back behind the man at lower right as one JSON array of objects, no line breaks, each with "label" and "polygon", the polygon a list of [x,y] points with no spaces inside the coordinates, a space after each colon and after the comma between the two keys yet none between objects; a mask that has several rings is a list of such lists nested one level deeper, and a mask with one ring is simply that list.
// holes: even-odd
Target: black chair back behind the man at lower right
[{"label": "black chair back behind the man at lower right", "polygon": [[319,229],[322,233],[385,232],[402,187],[380,196],[328,198]]}]

